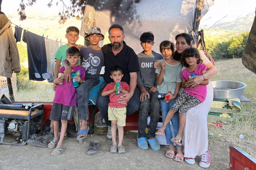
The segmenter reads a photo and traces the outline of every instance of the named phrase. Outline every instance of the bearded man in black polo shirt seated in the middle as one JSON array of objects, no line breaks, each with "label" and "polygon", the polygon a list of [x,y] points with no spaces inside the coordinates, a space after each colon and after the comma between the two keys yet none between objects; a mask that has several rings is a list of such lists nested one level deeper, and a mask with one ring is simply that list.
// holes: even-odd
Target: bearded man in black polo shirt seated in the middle
[{"label": "bearded man in black polo shirt seated in the middle", "polygon": [[97,99],[97,105],[100,110],[100,114],[104,118],[108,125],[107,141],[111,141],[111,121],[108,119],[108,104],[109,96],[102,96],[102,91],[107,84],[113,82],[110,78],[110,69],[114,66],[119,66],[123,70],[124,77],[122,81],[126,82],[130,86],[129,93],[126,93],[119,97],[118,103],[127,104],[126,115],[131,115],[139,108],[139,89],[137,85],[137,72],[139,71],[138,57],[134,50],[126,45],[124,42],[124,29],[118,24],[114,24],[109,28],[109,40],[110,44],[106,44],[102,47],[104,55],[104,80],[105,83],[99,90],[99,96]]}]

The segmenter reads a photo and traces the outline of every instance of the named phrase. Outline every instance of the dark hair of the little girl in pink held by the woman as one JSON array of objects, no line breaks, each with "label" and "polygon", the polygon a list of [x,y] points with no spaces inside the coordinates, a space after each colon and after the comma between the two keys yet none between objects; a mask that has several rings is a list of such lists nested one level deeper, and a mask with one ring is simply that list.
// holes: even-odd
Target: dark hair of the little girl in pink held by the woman
[{"label": "dark hair of the little girl in pink held by the woman", "polygon": [[182,66],[189,67],[188,63],[186,63],[186,58],[189,58],[189,57],[195,57],[197,60],[196,61],[197,64],[200,64],[203,62],[201,60],[200,53],[199,53],[198,49],[190,47],[190,48],[185,49],[185,51],[181,54]]}]

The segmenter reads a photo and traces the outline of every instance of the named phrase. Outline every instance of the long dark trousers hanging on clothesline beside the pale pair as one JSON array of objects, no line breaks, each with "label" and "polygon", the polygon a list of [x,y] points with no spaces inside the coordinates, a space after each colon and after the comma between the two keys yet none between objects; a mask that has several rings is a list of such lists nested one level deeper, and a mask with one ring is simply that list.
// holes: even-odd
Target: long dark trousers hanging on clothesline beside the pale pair
[{"label": "long dark trousers hanging on clothesline beside the pale pair", "polygon": [[45,38],[24,30],[22,40],[27,44],[29,80],[43,81],[47,73]]}]

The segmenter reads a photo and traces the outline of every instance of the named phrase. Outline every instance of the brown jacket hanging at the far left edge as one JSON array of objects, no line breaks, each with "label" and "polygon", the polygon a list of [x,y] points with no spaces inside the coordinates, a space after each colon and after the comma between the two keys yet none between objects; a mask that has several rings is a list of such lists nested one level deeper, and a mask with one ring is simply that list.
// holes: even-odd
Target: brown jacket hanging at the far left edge
[{"label": "brown jacket hanging at the far left edge", "polygon": [[19,52],[11,21],[0,11],[0,76],[11,78],[21,71]]}]

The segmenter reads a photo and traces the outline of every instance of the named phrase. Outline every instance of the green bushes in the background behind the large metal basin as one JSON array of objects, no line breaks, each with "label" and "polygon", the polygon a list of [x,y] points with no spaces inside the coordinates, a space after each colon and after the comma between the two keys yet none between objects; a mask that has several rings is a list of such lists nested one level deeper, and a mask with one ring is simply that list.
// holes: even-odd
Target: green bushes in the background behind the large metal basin
[{"label": "green bushes in the background behind the large metal basin", "polygon": [[206,49],[215,60],[241,58],[248,36],[249,32],[245,32],[223,42],[218,42],[217,39],[206,40]]}]

